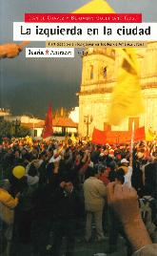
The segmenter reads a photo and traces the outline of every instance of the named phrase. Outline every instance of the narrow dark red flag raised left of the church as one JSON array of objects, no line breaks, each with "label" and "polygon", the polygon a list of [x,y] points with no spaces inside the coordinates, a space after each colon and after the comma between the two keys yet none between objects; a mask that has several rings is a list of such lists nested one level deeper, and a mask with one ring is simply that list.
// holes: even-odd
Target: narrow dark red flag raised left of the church
[{"label": "narrow dark red flag raised left of the church", "polygon": [[49,106],[47,117],[45,120],[45,127],[43,129],[42,137],[46,139],[53,134],[53,127],[52,127],[52,108],[51,105]]}]

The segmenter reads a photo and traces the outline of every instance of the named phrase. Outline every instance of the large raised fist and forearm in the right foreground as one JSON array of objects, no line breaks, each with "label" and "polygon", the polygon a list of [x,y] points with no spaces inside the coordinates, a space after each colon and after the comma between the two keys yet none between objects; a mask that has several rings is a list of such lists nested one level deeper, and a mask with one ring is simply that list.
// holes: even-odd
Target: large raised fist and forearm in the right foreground
[{"label": "large raised fist and forearm in the right foreground", "polygon": [[123,224],[133,251],[151,245],[152,242],[141,218],[135,189],[111,182],[107,187],[107,195],[108,204]]}]

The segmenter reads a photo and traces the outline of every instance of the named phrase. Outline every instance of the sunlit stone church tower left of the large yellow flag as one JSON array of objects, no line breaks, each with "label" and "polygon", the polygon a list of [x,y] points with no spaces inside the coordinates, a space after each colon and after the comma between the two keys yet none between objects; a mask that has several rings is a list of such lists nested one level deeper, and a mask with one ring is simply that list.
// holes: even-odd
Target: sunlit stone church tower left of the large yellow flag
[{"label": "sunlit stone church tower left of the large yellow flag", "polygon": [[94,127],[104,130],[115,74],[114,50],[88,48],[83,53],[82,82],[79,93],[80,135],[91,135]]}]

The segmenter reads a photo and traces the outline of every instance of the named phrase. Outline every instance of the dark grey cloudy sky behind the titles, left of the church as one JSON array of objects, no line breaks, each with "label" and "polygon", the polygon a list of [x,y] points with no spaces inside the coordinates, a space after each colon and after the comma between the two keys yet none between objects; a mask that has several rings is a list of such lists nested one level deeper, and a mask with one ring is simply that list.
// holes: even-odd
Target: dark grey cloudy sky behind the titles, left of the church
[{"label": "dark grey cloudy sky behind the titles, left of the church", "polygon": [[[92,1],[92,0],[91,0]],[[0,0],[0,43],[12,42],[13,21],[23,21],[25,12],[71,12],[88,0]],[[142,12],[144,21],[157,22],[156,0],[108,0],[116,12]],[[45,47],[32,42],[29,47]],[[0,106],[15,115],[30,113],[44,117],[49,102],[53,109],[78,105],[82,59],[78,51],[71,59],[26,58],[0,60]]]}]

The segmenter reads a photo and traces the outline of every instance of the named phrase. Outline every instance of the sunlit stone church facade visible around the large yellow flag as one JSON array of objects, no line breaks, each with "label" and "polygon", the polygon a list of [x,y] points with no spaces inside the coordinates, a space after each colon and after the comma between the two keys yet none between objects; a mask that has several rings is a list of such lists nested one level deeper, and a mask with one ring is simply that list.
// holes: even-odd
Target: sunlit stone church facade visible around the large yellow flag
[{"label": "sunlit stone church facade visible around the large yellow flag", "polygon": [[91,136],[93,128],[128,131],[134,120],[135,128],[144,126],[157,131],[157,42],[136,49],[140,83],[145,101],[145,113],[128,117],[118,126],[108,126],[108,106],[117,82],[120,55],[111,48],[89,48],[83,55],[82,81],[79,96],[80,136]]}]

